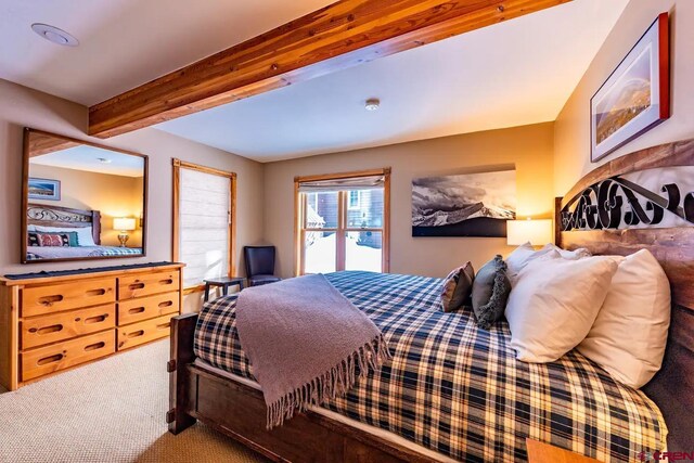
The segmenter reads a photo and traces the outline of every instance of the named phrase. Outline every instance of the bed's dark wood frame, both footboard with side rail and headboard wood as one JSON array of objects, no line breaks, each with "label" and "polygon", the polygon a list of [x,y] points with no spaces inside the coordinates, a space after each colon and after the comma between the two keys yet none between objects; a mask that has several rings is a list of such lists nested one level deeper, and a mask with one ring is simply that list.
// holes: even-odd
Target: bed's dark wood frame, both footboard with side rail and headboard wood
[{"label": "bed's dark wood frame, both footboard with side rail and headboard wood", "polygon": [[[615,255],[647,248],[665,269],[672,285],[670,339],[663,370],[644,390],[665,415],[670,430],[668,449],[691,452],[694,451],[694,420],[690,416],[694,410],[694,227],[570,231],[567,215],[589,189],[603,180],[672,166],[694,166],[694,140],[632,153],[590,172],[566,200],[556,201],[556,244]],[[178,434],[200,420],[278,462],[430,461],[406,447],[310,411],[298,413],[280,428],[266,430],[266,406],[260,391],[193,364],[196,322],[197,314],[191,313],[175,318],[171,323],[167,413],[171,433]]]}]

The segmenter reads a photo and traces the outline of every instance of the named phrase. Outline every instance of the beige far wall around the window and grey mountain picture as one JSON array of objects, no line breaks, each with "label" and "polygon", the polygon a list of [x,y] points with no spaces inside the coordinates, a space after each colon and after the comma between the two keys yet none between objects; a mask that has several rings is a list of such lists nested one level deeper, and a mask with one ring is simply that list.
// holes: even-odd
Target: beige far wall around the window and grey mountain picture
[{"label": "beige far wall around the window and grey mountain picture", "polygon": [[265,237],[278,246],[282,275],[292,275],[294,177],[390,166],[390,271],[445,276],[466,260],[479,268],[494,254],[511,249],[505,239],[412,237],[412,179],[515,165],[518,216],[549,218],[552,160],[553,124],[549,123],[267,164]]}]

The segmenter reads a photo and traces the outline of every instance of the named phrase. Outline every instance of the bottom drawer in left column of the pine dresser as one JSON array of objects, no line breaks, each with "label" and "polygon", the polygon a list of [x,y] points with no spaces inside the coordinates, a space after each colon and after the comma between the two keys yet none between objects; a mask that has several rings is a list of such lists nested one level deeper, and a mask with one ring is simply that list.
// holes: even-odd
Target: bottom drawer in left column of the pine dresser
[{"label": "bottom drawer in left column of the pine dresser", "polygon": [[106,357],[116,350],[115,330],[22,352],[22,381]]}]

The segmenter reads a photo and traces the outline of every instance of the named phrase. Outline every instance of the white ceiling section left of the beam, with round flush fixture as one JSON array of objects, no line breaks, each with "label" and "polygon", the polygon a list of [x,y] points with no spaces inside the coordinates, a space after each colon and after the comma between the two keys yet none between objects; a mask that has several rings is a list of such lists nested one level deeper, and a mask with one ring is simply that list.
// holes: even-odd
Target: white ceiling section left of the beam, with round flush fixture
[{"label": "white ceiling section left of the beam, with round flush fixture", "polygon": [[[90,106],[330,3],[0,0],[0,78]],[[41,39],[33,23],[79,47]]]}]

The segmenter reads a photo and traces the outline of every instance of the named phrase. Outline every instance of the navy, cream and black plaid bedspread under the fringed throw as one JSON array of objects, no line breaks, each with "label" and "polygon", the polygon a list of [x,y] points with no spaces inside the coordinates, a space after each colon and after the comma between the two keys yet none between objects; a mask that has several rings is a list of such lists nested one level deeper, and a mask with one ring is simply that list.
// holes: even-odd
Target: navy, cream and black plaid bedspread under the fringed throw
[{"label": "navy, cream and black plaid bedspread under the fringed throw", "polygon": [[[545,364],[517,361],[505,322],[485,332],[470,310],[441,310],[441,280],[325,276],[383,331],[394,356],[325,408],[462,461],[526,461],[526,437],[605,462],[666,448],[663,416],[643,393],[578,352]],[[235,300],[204,306],[195,353],[253,378],[234,326]]]}]

